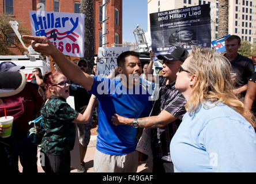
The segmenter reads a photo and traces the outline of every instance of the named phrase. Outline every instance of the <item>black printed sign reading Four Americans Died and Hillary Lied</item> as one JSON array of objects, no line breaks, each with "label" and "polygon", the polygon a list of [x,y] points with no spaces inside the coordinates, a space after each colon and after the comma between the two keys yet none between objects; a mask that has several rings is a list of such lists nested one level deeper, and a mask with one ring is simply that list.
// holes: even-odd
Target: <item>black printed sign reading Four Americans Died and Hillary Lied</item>
[{"label": "black printed sign reading Four Americans Died and Hillary Lied", "polygon": [[160,11],[150,15],[152,51],[156,55],[180,46],[210,47],[210,5]]}]

